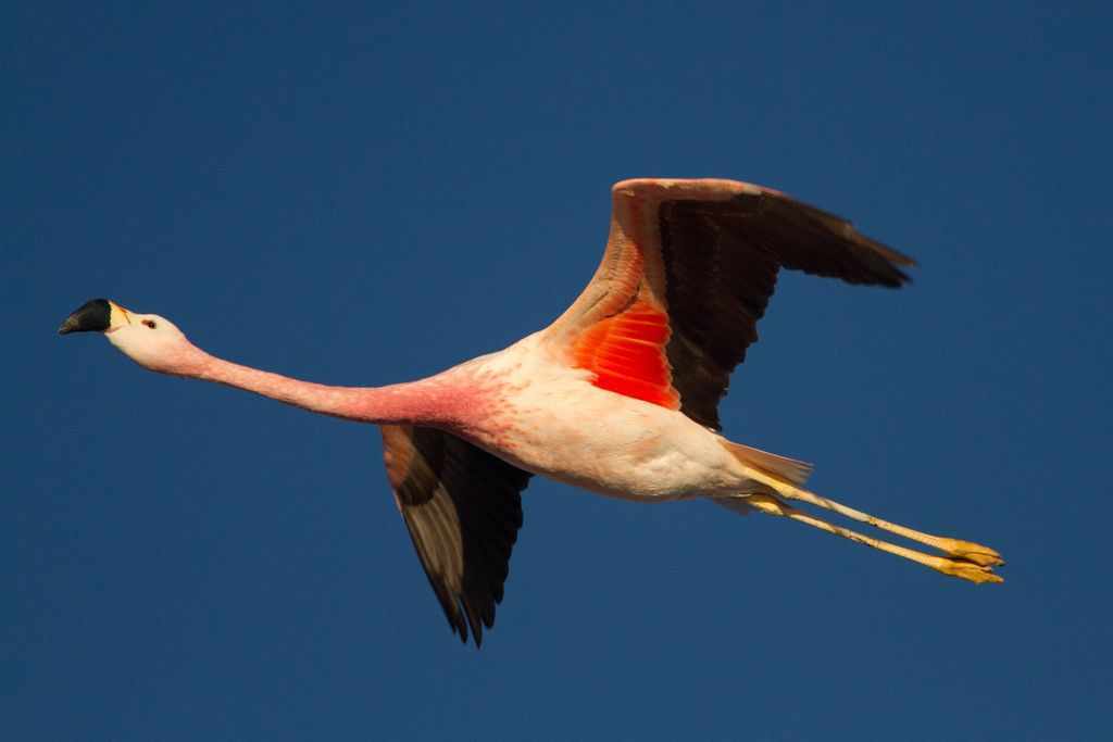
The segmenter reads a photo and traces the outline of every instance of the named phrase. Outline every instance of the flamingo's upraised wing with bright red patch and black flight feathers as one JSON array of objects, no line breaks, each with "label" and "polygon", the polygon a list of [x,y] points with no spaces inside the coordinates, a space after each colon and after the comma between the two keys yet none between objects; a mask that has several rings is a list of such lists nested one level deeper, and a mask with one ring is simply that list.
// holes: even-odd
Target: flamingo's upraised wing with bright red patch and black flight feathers
[{"label": "flamingo's upraised wing with bright red patch and black flight feathers", "polygon": [[781,268],[898,287],[915,261],[849,221],[735,180],[615,184],[595,276],[546,330],[605,389],[719,429],[730,373]]}]

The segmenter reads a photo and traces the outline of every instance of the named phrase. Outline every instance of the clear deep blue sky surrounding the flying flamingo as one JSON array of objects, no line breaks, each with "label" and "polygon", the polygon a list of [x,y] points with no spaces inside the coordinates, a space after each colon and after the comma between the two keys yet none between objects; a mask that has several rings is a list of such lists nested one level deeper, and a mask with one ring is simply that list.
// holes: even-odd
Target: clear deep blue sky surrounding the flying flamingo
[{"label": "clear deep blue sky surrounding the flying flamingo", "polygon": [[[152,4],[0,11],[4,739],[1109,733],[1106,3]],[[423,376],[562,311],[632,176],[920,260],[784,277],[723,424],[1004,585],[535,478],[476,652],[373,428],[55,335],[108,296],[285,374]]]}]

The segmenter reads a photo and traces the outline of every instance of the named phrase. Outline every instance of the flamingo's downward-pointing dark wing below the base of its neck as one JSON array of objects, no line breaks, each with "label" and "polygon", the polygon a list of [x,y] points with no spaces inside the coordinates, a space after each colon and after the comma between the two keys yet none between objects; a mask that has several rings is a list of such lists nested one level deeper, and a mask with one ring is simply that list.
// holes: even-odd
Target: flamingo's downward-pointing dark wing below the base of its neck
[{"label": "flamingo's downward-pointing dark wing below the base of its neck", "polygon": [[449,625],[475,645],[495,604],[522,527],[530,474],[453,435],[381,425],[386,476]]}]

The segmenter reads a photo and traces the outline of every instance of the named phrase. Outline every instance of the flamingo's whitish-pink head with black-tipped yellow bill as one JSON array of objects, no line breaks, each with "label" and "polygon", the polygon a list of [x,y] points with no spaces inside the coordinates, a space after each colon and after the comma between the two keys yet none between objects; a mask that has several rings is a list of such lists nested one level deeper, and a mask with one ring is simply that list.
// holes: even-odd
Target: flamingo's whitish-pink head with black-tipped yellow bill
[{"label": "flamingo's whitish-pink head with black-tipped yellow bill", "polygon": [[204,359],[166,317],[141,315],[109,299],[90,299],[75,309],[58,328],[59,335],[70,333],[101,333],[128,358],[162,374],[195,373]]}]

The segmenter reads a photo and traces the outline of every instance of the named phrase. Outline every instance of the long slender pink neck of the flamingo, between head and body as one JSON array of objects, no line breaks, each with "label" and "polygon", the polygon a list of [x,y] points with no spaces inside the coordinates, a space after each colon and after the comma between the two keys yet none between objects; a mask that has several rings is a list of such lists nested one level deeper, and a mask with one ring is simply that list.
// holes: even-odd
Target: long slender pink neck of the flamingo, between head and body
[{"label": "long slender pink neck of the flamingo, between head and body", "polygon": [[208,354],[181,375],[361,423],[454,426],[465,413],[456,385],[437,377],[383,387],[327,386],[240,366]]}]

